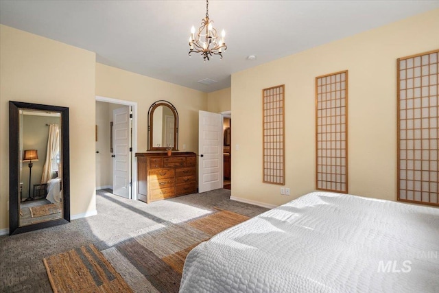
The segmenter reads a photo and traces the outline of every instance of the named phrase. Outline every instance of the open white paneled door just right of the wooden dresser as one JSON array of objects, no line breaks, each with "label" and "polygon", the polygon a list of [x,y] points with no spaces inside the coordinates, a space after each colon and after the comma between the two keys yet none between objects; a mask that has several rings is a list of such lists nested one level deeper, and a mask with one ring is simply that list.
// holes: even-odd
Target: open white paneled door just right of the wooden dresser
[{"label": "open white paneled door just right of the wooden dresser", "polygon": [[198,192],[206,192],[223,185],[223,118],[200,110],[198,121]]}]

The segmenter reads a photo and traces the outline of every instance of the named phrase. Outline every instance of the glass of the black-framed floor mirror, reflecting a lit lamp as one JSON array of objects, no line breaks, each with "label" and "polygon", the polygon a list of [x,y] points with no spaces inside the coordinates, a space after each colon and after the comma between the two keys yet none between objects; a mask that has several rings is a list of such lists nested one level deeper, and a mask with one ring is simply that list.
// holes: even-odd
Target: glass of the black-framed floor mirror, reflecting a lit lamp
[{"label": "glass of the black-framed floor mirror, reflecting a lit lamp", "polygon": [[62,218],[61,113],[19,110],[19,226]]}]

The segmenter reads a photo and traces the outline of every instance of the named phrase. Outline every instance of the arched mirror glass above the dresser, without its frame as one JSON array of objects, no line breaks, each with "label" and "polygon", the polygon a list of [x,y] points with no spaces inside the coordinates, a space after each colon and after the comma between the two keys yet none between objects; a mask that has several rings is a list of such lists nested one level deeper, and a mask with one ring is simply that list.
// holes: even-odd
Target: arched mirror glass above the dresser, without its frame
[{"label": "arched mirror glass above the dresser, without its frame", "polygon": [[167,106],[154,110],[152,145],[154,148],[174,148],[175,117]]}]

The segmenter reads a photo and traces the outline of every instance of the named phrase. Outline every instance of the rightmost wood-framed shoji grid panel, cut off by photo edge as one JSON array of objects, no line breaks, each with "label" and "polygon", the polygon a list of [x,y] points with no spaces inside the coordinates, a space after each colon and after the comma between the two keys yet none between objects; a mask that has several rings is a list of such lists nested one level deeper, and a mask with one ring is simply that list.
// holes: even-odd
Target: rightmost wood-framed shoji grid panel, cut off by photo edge
[{"label": "rightmost wood-framed shoji grid panel, cut off by photo edge", "polygon": [[397,60],[398,200],[439,206],[439,50]]}]

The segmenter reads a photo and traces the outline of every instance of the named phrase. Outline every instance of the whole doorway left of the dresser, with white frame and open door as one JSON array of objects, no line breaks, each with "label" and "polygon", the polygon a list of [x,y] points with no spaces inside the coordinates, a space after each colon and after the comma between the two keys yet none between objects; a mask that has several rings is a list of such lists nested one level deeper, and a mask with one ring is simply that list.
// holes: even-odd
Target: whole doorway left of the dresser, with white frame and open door
[{"label": "whole doorway left of the dresser, with white frame and open door", "polygon": [[137,103],[96,96],[96,189],[136,199]]}]

